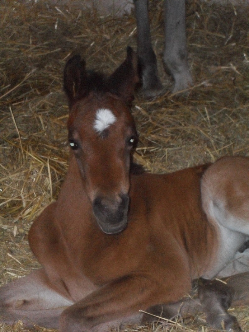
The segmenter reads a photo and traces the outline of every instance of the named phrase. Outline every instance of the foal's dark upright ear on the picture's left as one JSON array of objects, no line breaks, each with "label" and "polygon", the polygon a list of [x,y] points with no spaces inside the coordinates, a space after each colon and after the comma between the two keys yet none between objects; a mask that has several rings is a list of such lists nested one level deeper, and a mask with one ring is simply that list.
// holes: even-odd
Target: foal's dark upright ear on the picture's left
[{"label": "foal's dark upright ear on the picture's left", "polygon": [[69,108],[87,93],[86,80],[86,63],[80,61],[80,55],[74,55],[67,61],[64,69],[64,91],[68,97]]}]

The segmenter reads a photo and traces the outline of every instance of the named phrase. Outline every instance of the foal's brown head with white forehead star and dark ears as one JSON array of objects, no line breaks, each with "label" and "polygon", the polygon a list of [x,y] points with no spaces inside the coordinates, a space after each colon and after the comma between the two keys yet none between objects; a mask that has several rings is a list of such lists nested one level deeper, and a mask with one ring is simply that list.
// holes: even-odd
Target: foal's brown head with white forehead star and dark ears
[{"label": "foal's brown head with white forehead star and dark ears", "polygon": [[77,55],[64,72],[69,146],[97,223],[107,234],[127,225],[130,158],[137,140],[129,107],[137,82],[137,56],[131,48],[109,78],[86,71]]}]

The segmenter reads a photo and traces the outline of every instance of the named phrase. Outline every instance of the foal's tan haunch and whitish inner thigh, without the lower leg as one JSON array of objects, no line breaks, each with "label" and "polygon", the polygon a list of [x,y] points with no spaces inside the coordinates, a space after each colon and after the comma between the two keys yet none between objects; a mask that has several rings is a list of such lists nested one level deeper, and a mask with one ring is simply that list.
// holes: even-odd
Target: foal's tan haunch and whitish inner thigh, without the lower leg
[{"label": "foal's tan haunch and whitish inner thigh, without the lower leg", "polygon": [[[249,159],[223,157],[204,173],[201,182],[202,206],[217,233],[217,252],[212,265],[214,275],[222,271],[249,238]],[[249,270],[249,262],[246,262]],[[207,277],[213,277],[212,275]]]}]

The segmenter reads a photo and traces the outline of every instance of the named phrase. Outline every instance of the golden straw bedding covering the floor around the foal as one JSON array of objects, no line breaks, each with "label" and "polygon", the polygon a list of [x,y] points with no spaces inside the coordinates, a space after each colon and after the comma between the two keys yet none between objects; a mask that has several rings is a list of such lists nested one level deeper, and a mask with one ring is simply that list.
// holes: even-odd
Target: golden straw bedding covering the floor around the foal
[{"label": "golden straw bedding covering the floor around the foal", "polygon": [[[153,45],[163,71],[163,2],[150,3]],[[0,284],[39,266],[29,227],[54,201],[67,171],[65,61],[80,53],[88,67],[111,73],[136,47],[133,15],[99,17],[94,9],[45,2],[0,3]],[[218,157],[249,155],[249,9],[187,4],[189,63],[195,86],[184,96],[137,95],[132,108],[140,142],[135,159],[169,172]],[[169,91],[169,90],[168,90]],[[234,311],[249,330],[248,308]],[[210,331],[205,316],[125,331]],[[35,331],[45,331],[39,327]],[[0,331],[23,331],[22,323]],[[49,330],[46,330],[49,331]]]}]

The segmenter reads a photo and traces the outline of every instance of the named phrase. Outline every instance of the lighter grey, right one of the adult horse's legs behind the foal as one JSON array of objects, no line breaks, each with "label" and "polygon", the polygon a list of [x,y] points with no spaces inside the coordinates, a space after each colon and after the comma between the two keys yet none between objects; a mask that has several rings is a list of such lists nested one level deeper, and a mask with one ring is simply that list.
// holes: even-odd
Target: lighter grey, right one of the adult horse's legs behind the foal
[{"label": "lighter grey, right one of the adult horse's legs behind the foal", "polygon": [[186,42],[185,0],[165,0],[164,67],[175,81],[173,93],[193,84],[188,65]]}]

